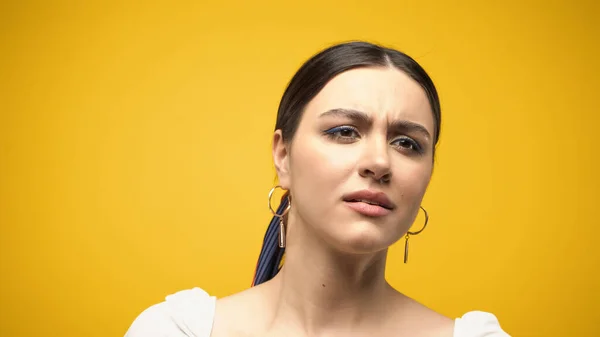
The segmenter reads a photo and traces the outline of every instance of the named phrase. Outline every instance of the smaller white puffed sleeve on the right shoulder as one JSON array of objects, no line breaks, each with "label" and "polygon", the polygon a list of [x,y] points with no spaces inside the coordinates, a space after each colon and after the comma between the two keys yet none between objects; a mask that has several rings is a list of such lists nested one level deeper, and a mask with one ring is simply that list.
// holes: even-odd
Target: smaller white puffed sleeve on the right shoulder
[{"label": "smaller white puffed sleeve on the right shoulder", "polygon": [[470,311],[454,322],[454,337],[510,337],[494,314]]}]

